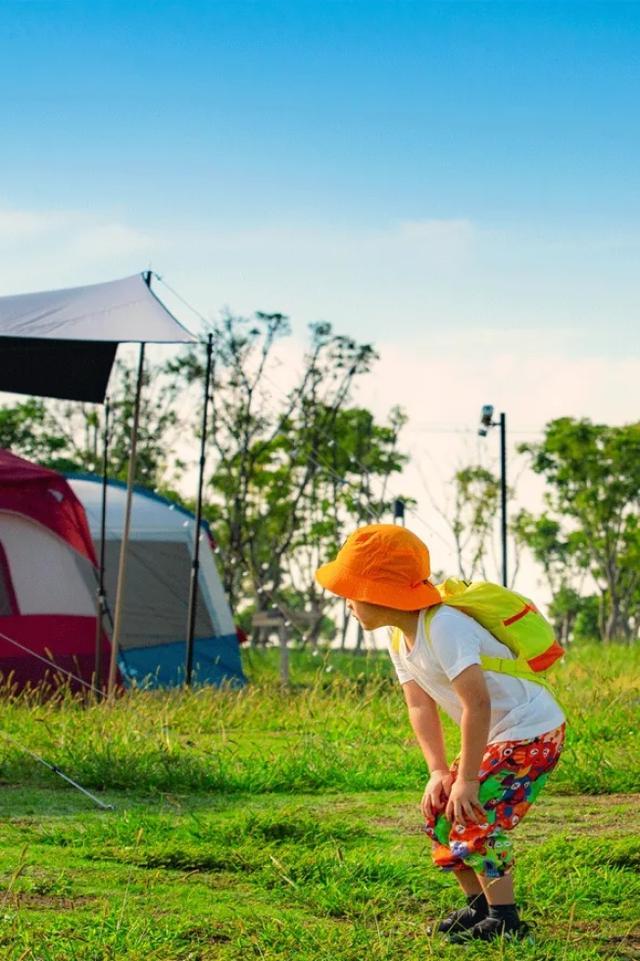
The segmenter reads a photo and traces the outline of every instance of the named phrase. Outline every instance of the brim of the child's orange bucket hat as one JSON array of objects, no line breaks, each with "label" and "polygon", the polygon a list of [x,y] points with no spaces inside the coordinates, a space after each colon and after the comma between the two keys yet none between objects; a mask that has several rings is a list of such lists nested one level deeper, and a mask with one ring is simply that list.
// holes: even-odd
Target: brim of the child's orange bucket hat
[{"label": "brim of the child's orange bucket hat", "polygon": [[399,611],[419,611],[442,602],[438,589],[429,581],[416,587],[402,587],[389,581],[365,579],[337,561],[319,567],[316,580],[339,597],[379,604],[381,607],[395,607]]}]

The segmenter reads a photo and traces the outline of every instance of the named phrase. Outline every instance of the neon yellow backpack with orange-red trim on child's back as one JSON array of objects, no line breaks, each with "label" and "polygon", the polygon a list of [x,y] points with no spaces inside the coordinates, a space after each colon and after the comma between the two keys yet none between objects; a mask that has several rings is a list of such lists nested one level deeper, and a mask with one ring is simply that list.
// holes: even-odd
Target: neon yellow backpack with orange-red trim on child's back
[{"label": "neon yellow backpack with orange-red trim on child's back", "polygon": [[[480,655],[485,671],[498,671],[512,677],[535,681],[550,690],[545,675],[558,658],[563,656],[564,650],[556,641],[551,624],[532,601],[522,594],[488,581],[469,583],[449,577],[436,587],[443,604],[457,607],[468,614],[516,655],[515,660]],[[439,607],[440,605],[436,604],[425,615],[427,637],[429,621]],[[399,628],[394,628],[391,646],[396,652],[400,650],[401,637]]]}]

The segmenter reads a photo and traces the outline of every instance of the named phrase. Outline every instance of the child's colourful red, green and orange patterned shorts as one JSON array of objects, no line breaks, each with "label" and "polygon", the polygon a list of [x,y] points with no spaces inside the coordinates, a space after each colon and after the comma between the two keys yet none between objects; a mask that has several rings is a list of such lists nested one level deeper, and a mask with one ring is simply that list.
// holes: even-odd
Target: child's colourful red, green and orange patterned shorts
[{"label": "child's colourful red, green and orange patterned shorts", "polygon": [[[485,824],[452,825],[444,814],[427,821],[434,864],[444,871],[472,868],[476,874],[499,878],[513,867],[512,841],[507,835],[522,820],[558,763],[565,725],[526,741],[487,744],[478,771],[478,797],[487,812]],[[455,775],[458,758],[451,765]]]}]

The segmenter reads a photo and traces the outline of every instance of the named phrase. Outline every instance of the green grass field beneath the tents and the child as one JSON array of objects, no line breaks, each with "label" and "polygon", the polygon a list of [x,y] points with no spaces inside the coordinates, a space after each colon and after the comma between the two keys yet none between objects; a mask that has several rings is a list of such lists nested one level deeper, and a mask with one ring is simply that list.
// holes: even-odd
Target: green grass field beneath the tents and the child
[{"label": "green grass field beneath the tents and the child", "polygon": [[[5,699],[0,959],[640,958],[638,650],[572,650],[563,761],[515,837],[535,939],[457,948],[430,865],[425,767],[386,655],[247,652],[244,691]],[[456,731],[446,724],[450,750]]]}]

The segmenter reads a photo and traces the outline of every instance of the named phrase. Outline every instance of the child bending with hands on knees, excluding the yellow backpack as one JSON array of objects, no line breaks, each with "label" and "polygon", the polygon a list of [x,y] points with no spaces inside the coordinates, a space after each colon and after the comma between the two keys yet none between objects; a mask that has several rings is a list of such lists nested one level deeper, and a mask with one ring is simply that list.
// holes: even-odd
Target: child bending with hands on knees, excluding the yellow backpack
[{"label": "child bending with hands on knees, excluding the yellow backpack", "polygon": [[[441,601],[429,574],[429,551],[415,534],[372,524],[351,534],[316,577],[347,599],[365,630],[402,631],[398,652],[390,646],[389,653],[430,772],[425,830],[434,863],[453,872],[467,896],[438,930],[456,943],[519,938],[529,928],[515,905],[507,832],[555,767],[565,718],[542,685],[480,667],[481,654],[514,655],[467,614],[442,604],[425,630],[425,611]],[[461,730],[451,765],[438,707]]]}]

